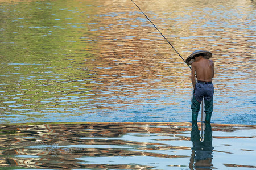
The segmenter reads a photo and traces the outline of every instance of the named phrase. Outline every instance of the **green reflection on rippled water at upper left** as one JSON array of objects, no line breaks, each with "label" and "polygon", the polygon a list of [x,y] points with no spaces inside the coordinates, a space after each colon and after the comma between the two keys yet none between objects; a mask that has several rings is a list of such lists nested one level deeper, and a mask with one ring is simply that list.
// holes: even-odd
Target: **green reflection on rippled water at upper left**
[{"label": "green reflection on rippled water at upper left", "polygon": [[[90,1],[80,4],[72,1],[2,3],[3,112],[7,108],[21,113],[55,108],[61,105],[57,101],[70,98],[74,100],[70,104],[88,102],[90,97],[86,94],[91,90],[88,84],[93,76],[86,62],[95,58],[90,49],[97,45],[87,41],[97,36],[97,32],[88,33],[88,24],[93,23],[89,15],[96,8]],[[30,114],[30,117],[41,116]]]}]

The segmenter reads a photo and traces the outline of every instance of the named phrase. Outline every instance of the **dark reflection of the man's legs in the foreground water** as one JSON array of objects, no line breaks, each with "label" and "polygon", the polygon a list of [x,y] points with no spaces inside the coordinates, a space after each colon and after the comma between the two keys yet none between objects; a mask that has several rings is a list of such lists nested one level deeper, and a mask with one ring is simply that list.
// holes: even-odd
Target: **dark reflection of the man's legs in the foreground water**
[{"label": "dark reflection of the man's legs in the foreground water", "polygon": [[[191,141],[193,142],[192,154],[189,163],[190,169],[212,169],[212,126],[205,124],[204,140],[200,140],[200,131],[197,122],[192,123]],[[194,165],[194,166],[193,166]]]}]

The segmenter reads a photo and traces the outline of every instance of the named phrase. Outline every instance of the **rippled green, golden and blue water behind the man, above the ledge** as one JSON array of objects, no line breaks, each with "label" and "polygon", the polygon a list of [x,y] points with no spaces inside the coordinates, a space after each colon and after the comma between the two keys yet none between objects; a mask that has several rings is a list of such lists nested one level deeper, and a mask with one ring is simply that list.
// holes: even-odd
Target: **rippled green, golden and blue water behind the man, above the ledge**
[{"label": "rippled green, golden and blue water behind the man, above the ledge", "polygon": [[[135,1],[213,53],[212,122],[255,124],[255,1]],[[191,71],[131,1],[0,1],[0,123],[190,121]]]}]

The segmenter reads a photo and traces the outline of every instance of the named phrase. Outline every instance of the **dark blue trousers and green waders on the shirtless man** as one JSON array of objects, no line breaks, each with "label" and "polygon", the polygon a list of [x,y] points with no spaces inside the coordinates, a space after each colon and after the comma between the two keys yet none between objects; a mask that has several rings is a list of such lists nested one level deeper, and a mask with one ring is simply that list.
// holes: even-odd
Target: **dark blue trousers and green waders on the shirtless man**
[{"label": "dark blue trousers and green waders on the shirtless man", "polygon": [[205,122],[210,122],[213,111],[213,84],[208,83],[196,83],[195,90],[193,92],[191,110],[192,110],[192,122],[197,122],[198,112],[200,110],[201,101],[204,98],[204,112]]}]

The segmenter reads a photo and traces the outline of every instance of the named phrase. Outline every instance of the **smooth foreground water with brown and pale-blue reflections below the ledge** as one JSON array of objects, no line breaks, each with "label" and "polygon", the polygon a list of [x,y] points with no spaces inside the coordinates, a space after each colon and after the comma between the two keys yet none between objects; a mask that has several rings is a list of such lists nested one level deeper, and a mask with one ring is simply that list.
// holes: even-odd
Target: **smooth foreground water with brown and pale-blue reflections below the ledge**
[{"label": "smooth foreground water with brown and pale-blue reflections below the ledge", "polygon": [[[207,133],[202,137],[204,142],[213,139],[214,149],[207,150],[214,152],[209,167],[256,167],[253,162],[246,165],[245,159],[236,159],[237,164],[229,164],[230,160],[241,154],[255,154],[252,145],[255,142],[255,128],[253,125],[212,124],[213,134],[210,133],[210,138],[206,137]],[[192,131],[191,124],[187,122],[1,125],[0,166],[39,169],[166,169],[191,168],[195,159],[195,166],[200,167],[205,163],[204,160],[199,161],[203,150],[197,148],[201,147],[201,132],[198,131],[196,135],[194,131],[192,140]],[[225,141],[226,138],[232,141]],[[246,140],[248,145],[233,148],[233,145],[236,147],[235,143],[245,142],[241,139]],[[250,139],[254,139],[254,142]],[[190,140],[193,141],[192,154]],[[228,154],[228,158],[225,154]],[[226,159],[221,160],[224,165],[214,162],[218,156],[225,156]]]}]

